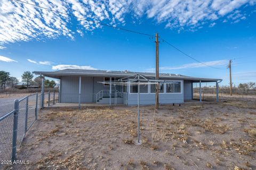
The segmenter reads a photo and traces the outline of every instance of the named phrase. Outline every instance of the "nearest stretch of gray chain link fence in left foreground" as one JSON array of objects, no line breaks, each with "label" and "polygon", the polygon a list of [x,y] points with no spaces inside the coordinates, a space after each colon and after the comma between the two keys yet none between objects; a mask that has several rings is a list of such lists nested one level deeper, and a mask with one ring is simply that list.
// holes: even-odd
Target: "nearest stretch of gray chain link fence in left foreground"
[{"label": "nearest stretch of gray chain link fence in left foreground", "polygon": [[16,149],[37,120],[41,108],[42,95],[32,94],[14,100],[14,110],[0,117],[0,160],[15,160]]}]

